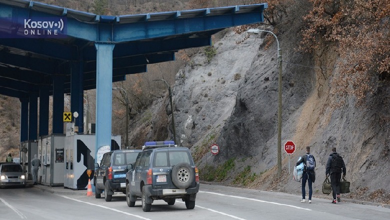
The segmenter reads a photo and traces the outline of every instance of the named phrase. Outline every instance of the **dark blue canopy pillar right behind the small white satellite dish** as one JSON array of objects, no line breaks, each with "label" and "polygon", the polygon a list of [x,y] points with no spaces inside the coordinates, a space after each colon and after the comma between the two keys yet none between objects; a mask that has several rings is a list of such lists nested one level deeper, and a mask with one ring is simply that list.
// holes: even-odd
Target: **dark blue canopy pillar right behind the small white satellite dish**
[{"label": "dark blue canopy pillar right behind the small white satellite dish", "polygon": [[78,133],[83,132],[83,74],[82,61],[72,61],[70,83],[70,111],[77,111],[78,117],[74,119],[74,126],[78,127]]}]

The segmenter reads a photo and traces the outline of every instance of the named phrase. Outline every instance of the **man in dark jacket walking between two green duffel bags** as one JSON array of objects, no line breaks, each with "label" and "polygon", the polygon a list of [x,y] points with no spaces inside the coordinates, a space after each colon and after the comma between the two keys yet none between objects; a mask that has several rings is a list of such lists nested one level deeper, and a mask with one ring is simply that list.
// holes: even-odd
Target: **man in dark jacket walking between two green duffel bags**
[{"label": "man in dark jacket walking between two green duffel bags", "polygon": [[326,162],[326,177],[330,174],[330,183],[332,185],[332,195],[333,200],[332,203],[340,202],[340,181],[341,181],[341,172],[345,176],[346,169],[345,163],[342,157],[336,152],[336,147],[332,148],[332,152],[329,155],[329,158]]}]

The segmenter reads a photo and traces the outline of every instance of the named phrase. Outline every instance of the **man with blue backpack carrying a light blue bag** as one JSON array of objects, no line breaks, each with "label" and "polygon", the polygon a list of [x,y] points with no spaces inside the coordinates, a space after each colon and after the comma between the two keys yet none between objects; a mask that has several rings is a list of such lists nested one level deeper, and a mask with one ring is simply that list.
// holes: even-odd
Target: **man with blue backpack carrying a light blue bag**
[{"label": "man with blue backpack carrying a light blue bag", "polygon": [[299,165],[301,162],[303,162],[304,167],[303,167],[303,175],[302,175],[302,200],[300,202],[305,202],[306,199],[306,181],[309,187],[309,197],[308,197],[308,202],[311,203],[311,195],[313,194],[313,189],[312,189],[312,183],[315,180],[315,158],[313,155],[310,154],[310,147],[306,146],[306,154],[301,156],[300,159],[296,162],[296,165]]}]

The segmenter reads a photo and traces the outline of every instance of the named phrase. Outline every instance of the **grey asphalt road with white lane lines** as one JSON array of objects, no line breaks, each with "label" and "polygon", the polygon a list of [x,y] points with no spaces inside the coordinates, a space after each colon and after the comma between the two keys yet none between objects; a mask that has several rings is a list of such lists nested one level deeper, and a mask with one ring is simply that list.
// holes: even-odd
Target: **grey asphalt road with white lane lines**
[{"label": "grey asphalt road with white lane lines", "polygon": [[[112,201],[86,196],[85,190],[63,187],[0,189],[0,219],[389,219],[390,208],[350,202],[330,203],[313,198],[301,203],[299,195],[201,184],[196,206],[188,210],[176,199],[174,205],[163,200],[153,202],[150,212],[143,212],[141,201],[127,207],[125,196],[115,193]],[[58,189],[58,190],[55,190]],[[61,190],[59,190],[61,189]],[[102,196],[103,197],[103,196]]]}]

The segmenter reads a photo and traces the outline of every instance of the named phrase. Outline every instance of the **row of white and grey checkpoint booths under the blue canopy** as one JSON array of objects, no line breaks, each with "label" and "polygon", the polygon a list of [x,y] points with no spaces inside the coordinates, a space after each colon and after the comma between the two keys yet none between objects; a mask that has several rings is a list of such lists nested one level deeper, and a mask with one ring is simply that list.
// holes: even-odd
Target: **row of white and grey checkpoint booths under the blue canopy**
[{"label": "row of white and grey checkpoint booths under the blue canopy", "polygon": [[[66,134],[51,134],[20,143],[20,163],[28,173],[29,181],[32,181],[29,161],[37,154],[41,161],[38,183],[71,189],[87,188],[88,169],[92,170],[90,179],[93,180],[96,137],[94,133],[78,134],[73,129],[74,123],[67,123]],[[120,149],[120,137],[112,135],[111,146],[100,147],[97,157],[101,159],[105,152]]]}]

